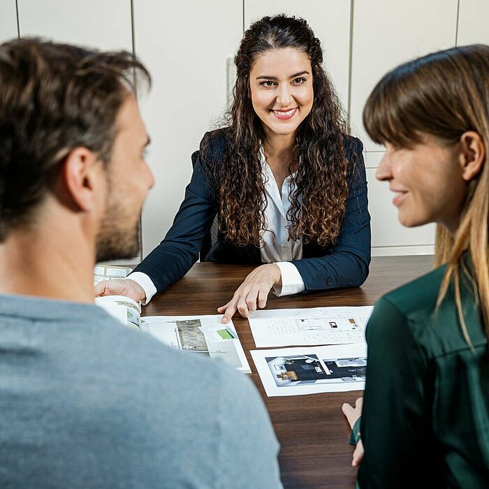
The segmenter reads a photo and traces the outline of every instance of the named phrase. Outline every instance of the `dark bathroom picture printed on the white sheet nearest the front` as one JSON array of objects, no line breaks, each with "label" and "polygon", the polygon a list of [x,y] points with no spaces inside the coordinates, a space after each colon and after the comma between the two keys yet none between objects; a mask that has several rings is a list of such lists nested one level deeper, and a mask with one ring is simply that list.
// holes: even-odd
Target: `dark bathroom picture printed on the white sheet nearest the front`
[{"label": "dark bathroom picture printed on the white sheet nearest the front", "polygon": [[366,357],[320,360],[311,354],[267,357],[265,360],[277,387],[365,381],[367,367]]}]

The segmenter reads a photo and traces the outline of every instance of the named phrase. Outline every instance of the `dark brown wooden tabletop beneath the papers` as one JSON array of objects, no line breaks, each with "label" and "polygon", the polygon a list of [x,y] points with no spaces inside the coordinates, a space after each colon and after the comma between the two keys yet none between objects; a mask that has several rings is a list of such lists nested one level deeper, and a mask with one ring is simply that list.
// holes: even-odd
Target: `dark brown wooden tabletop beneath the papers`
[{"label": "dark brown wooden tabletop beneath the papers", "polygon": [[[384,293],[423,275],[432,268],[432,256],[372,258],[370,275],[357,289],[343,289],[277,298],[270,294],[265,309],[320,306],[373,305]],[[143,308],[144,316],[217,314],[253,269],[247,265],[196,263],[179,282]],[[282,446],[279,456],[284,488],[354,488],[356,469],[351,467],[350,430],[341,412],[344,402],[354,402],[361,391],[267,397],[250,349],[255,349],[247,319],[233,317],[260,391]]]}]

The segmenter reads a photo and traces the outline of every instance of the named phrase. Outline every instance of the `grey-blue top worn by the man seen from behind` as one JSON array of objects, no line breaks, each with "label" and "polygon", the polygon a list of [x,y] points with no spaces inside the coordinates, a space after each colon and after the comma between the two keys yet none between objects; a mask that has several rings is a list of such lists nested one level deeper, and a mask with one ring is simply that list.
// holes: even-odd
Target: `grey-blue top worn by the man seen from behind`
[{"label": "grey-blue top worn by the man seen from behind", "polygon": [[94,305],[0,295],[1,488],[281,488],[253,384]]}]

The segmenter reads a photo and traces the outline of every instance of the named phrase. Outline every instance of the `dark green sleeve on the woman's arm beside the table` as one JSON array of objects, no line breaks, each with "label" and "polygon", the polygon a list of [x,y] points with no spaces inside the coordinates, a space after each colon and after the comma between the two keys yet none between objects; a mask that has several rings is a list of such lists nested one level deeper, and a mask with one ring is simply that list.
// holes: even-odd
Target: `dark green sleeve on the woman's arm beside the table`
[{"label": "dark green sleeve on the woman's arm beside the table", "polygon": [[359,486],[418,487],[417,478],[430,469],[432,460],[427,453],[432,425],[425,354],[409,319],[387,298],[375,305],[366,337],[367,379],[360,421],[365,455]]}]

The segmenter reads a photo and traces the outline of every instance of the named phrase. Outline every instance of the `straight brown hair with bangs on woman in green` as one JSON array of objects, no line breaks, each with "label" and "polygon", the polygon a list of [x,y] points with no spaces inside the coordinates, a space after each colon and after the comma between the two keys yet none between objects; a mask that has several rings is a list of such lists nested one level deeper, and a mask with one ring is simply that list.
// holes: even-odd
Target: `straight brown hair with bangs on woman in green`
[{"label": "straight brown hair with bangs on woman in green", "polygon": [[[376,143],[412,147],[423,134],[441,144],[458,143],[475,131],[486,148],[479,175],[467,189],[455,236],[437,227],[436,265],[446,263],[438,305],[453,283],[458,316],[472,346],[460,298],[460,281],[472,284],[489,336],[489,46],[452,48],[415,59],[387,73],[374,88],[363,112],[363,123]],[[465,263],[465,252],[472,272]]]}]

